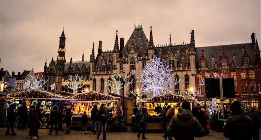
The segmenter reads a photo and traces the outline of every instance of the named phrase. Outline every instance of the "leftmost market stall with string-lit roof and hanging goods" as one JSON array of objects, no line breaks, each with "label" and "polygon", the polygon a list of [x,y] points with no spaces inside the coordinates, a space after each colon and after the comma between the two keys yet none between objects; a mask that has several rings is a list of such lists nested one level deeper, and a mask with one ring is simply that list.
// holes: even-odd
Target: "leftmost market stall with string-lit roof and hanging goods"
[{"label": "leftmost market stall with string-lit roof and hanging goods", "polygon": [[[55,99],[54,99],[55,98]],[[21,91],[15,94],[8,94],[5,99],[5,108],[6,110],[9,109],[10,104],[15,105],[15,112],[17,114],[17,109],[23,103],[26,103],[27,108],[29,109],[30,105],[36,105],[37,103],[41,103],[40,111],[41,111],[41,118],[40,118],[40,128],[48,128],[48,121],[51,109],[53,105],[60,106],[59,99],[64,98],[62,95],[54,94],[44,90],[26,90]],[[6,113],[7,115],[7,113]],[[17,117],[18,118],[18,117]],[[15,123],[17,126],[17,121]]]}]

